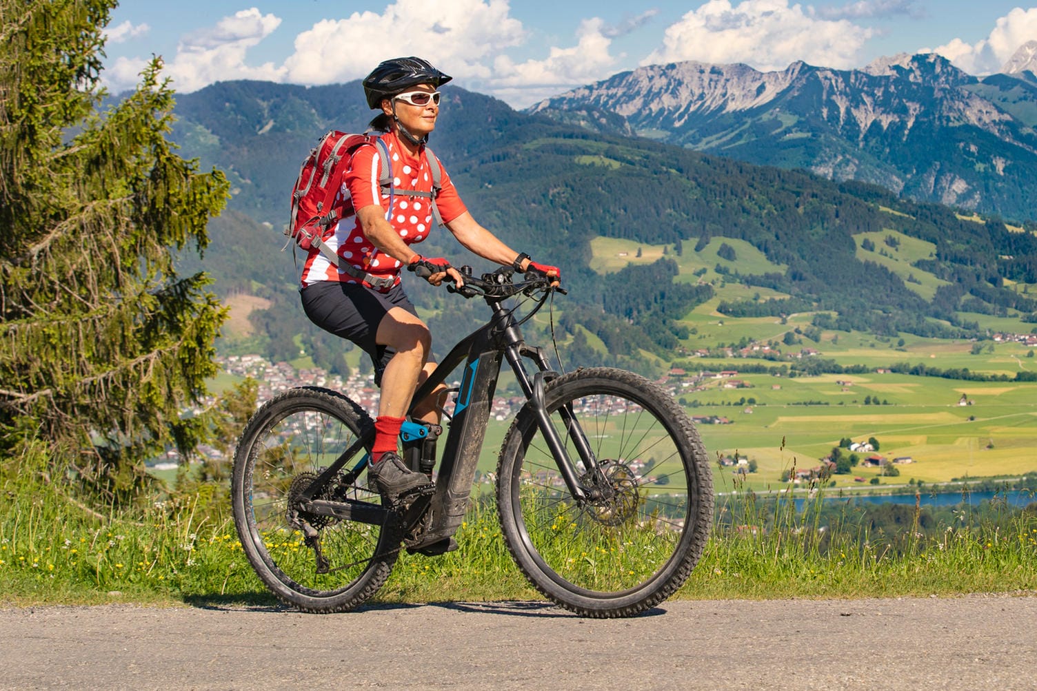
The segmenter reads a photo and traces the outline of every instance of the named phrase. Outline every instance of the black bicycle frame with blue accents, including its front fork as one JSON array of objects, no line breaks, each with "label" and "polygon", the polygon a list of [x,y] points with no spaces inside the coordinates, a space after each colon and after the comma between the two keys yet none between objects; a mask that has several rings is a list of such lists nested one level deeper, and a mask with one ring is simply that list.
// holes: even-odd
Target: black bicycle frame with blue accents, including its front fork
[{"label": "black bicycle frame with blue accents, including its front fork", "polygon": [[[538,347],[528,346],[522,338],[514,316],[503,307],[503,298],[483,296],[493,311],[493,317],[483,326],[461,339],[443,358],[431,376],[418,387],[412,399],[414,406],[425,400],[463,362],[465,363],[460,387],[453,415],[449,421],[446,445],[436,483],[436,492],[430,501],[432,520],[428,530],[422,536],[422,544],[449,537],[456,531],[464,520],[468,499],[472,493],[476,466],[485,438],[486,424],[493,404],[494,393],[500,377],[502,361],[507,361],[515,375],[520,387],[528,399],[530,412],[535,415],[537,427],[558,464],[565,484],[578,503],[594,498],[596,492],[585,488],[577,476],[576,466],[570,461],[565,444],[558,430],[551,423],[543,400],[544,382],[557,376],[551,370],[545,352]],[[544,298],[546,295],[544,296]],[[534,309],[534,312],[542,306]],[[537,371],[531,377],[526,371],[524,358],[531,359]],[[585,471],[599,472],[597,462],[569,406],[561,409],[566,432],[572,439]],[[339,458],[303,492],[304,509],[308,512],[335,516],[372,524],[383,524],[389,509],[363,501],[328,501],[315,499],[324,487],[344,467],[348,459],[355,457],[373,439],[369,430],[346,449]],[[369,457],[364,454],[360,462],[346,473],[353,482],[366,467]]]}]

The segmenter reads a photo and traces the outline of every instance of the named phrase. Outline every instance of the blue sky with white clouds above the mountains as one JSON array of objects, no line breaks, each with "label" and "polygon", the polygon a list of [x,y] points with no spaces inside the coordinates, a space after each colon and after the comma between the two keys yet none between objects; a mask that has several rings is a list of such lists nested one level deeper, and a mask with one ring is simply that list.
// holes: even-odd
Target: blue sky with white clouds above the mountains
[{"label": "blue sky with white clouds above the mountains", "polygon": [[862,67],[938,52],[974,75],[998,71],[1037,39],[1037,7],[987,0],[123,0],[105,80],[133,86],[161,55],[174,88],[262,79],[330,84],[379,61],[420,55],[455,83],[516,108],[645,64],[794,60]]}]

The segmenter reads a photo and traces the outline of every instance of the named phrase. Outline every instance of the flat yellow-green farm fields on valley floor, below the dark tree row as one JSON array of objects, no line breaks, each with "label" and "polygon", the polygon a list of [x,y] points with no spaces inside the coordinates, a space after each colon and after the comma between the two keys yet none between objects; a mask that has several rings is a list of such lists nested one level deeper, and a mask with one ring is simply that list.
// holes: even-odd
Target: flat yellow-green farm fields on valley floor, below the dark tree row
[{"label": "flat yellow-green farm fields on valley floor, below the dark tree row", "polygon": [[[878,455],[913,459],[896,466],[899,477],[879,478],[880,487],[905,486],[910,480],[932,484],[1037,470],[1035,383],[962,382],[895,374],[738,378],[752,387],[725,390],[718,381],[705,392],[678,396],[685,403],[691,403],[692,396],[698,397],[694,399],[698,405],[684,406],[692,415],[730,421],[726,425],[699,423],[699,434],[714,461],[735,455],[756,461],[757,471],[747,476],[746,482],[757,491],[783,488],[783,470],[818,466],[819,459],[843,437],[854,441],[874,437],[879,442]],[[958,405],[962,395],[966,404]],[[865,405],[866,396],[878,398],[879,404]],[[742,398],[753,398],[756,403],[736,405]],[[814,404],[803,405],[805,401]],[[491,423],[480,470],[496,467],[508,424]],[[859,454],[862,460],[869,455]],[[833,480],[840,488],[874,489],[870,481],[878,476],[878,467],[859,464],[850,474],[833,476]],[[713,465],[716,491],[731,491],[736,479],[732,468]]]}]

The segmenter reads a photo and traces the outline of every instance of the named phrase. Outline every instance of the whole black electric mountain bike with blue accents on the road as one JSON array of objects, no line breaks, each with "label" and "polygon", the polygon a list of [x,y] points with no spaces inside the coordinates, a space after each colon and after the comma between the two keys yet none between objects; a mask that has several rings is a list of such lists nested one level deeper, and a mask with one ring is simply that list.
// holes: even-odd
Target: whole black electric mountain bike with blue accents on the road
[{"label": "whole black electric mountain bike with blue accents on the road", "polygon": [[[497,464],[502,534],[518,568],[585,616],[628,616],[662,602],[695,568],[712,521],[712,479],[695,426],[639,375],[553,371],[546,351],[520,332],[549,296],[564,293],[546,279],[463,270],[465,285],[448,289],[484,298],[492,316],[415,394],[423,400],[464,364],[435,490],[390,505],[364,472],[370,415],[333,391],[284,392],[249,421],[234,455],[233,513],[246,556],[283,602],[333,612],[371,597],[400,549],[454,547],[506,361],[527,398]],[[442,433],[410,418],[400,432],[404,460],[430,479]]]}]

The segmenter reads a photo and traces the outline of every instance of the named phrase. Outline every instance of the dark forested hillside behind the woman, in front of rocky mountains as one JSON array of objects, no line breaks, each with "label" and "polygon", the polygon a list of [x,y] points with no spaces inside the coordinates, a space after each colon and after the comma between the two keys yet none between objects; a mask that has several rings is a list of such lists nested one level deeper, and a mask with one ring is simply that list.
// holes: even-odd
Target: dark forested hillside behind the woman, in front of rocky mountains
[{"label": "dark forested hillside behind the woman, in front of rocky mountains", "polygon": [[[205,266],[223,277],[220,286],[236,282],[239,290],[287,295],[298,312],[288,290],[292,262],[278,252],[291,181],[325,131],[364,127],[370,111],[360,93],[357,83],[307,89],[234,82],[179,97],[175,137],[185,152],[227,170],[234,188],[230,208],[270,224],[247,229],[228,217],[215,226]],[[594,135],[459,88],[447,87],[444,95],[431,146],[464,199],[513,247],[563,266],[573,289],[567,301],[587,308],[576,319],[593,334],[633,326],[641,347],[664,354],[681,338],[680,318],[712,296],[709,285],[678,276],[666,258],[610,275],[602,285],[590,250],[600,236],[666,244],[673,256],[697,252],[710,238],[736,238],[787,266],[752,275],[732,262],[728,280],[789,297],[725,304],[730,315],[824,310],[834,314],[819,318],[837,328],[951,337],[976,327],[956,314],[965,301],[972,312],[1028,319],[1037,313],[1037,301],[1010,285],[1037,283],[1033,229],[962,218],[877,186]],[[882,261],[889,248],[868,239],[884,233],[931,246],[912,264],[910,276],[891,270]],[[448,233],[432,241],[461,261]],[[239,249],[226,251],[230,243]],[[931,297],[917,289],[916,277],[938,286]],[[419,299],[442,300],[442,291],[420,292]],[[289,328],[281,316],[280,309],[276,317],[257,315],[271,327]],[[574,328],[571,319],[566,323]]]}]

